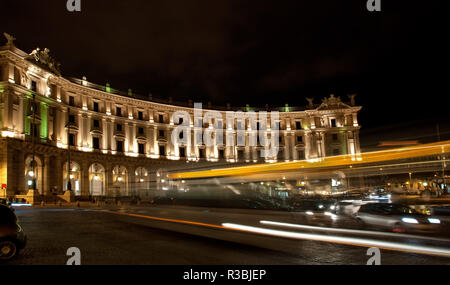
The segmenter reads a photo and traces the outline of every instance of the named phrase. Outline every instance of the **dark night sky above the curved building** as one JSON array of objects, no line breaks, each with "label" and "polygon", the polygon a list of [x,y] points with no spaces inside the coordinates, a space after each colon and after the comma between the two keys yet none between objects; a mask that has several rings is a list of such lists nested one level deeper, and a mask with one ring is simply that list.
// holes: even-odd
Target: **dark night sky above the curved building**
[{"label": "dark night sky above the curved building", "polygon": [[[448,123],[443,1],[2,0],[1,31],[65,76],[155,97],[306,105],[357,93],[367,130]],[[444,49],[446,49],[444,51]],[[402,127],[403,128],[403,127]]]}]

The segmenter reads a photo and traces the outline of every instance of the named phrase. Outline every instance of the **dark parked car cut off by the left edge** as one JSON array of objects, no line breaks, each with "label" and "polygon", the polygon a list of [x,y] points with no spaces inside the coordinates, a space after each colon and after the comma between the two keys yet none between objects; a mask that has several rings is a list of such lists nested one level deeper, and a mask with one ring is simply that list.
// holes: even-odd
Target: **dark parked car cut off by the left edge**
[{"label": "dark parked car cut off by the left edge", "polygon": [[25,248],[27,236],[19,224],[14,209],[0,204],[0,261],[11,260]]}]

